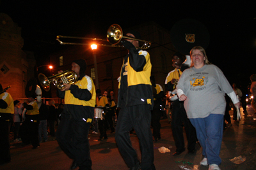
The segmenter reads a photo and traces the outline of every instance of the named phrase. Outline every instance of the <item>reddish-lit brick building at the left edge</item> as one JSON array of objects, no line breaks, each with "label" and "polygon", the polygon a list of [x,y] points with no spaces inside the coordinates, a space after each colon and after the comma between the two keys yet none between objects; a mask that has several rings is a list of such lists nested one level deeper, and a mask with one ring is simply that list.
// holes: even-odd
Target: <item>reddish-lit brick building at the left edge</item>
[{"label": "reddish-lit brick building at the left edge", "polygon": [[0,20],[0,82],[3,89],[11,86],[8,92],[13,98],[23,98],[26,97],[26,82],[31,76],[28,76],[28,69],[33,63],[35,66],[35,59],[26,60],[21,28],[5,13],[0,13]]}]

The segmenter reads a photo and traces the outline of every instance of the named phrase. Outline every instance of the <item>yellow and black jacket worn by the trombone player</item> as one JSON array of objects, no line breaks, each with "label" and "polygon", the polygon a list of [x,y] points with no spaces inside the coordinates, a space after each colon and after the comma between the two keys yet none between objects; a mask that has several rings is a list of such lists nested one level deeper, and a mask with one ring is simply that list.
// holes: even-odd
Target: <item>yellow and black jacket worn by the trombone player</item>
[{"label": "yellow and black jacket worn by the trombone player", "polygon": [[151,62],[148,52],[129,50],[120,73],[118,107],[153,103],[150,82]]}]

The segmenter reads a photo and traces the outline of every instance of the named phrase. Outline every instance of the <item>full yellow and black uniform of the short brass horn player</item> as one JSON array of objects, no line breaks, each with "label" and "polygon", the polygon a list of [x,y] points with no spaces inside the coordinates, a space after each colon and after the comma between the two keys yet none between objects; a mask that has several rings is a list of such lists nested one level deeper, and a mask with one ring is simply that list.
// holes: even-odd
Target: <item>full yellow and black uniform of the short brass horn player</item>
[{"label": "full yellow and black uniform of the short brass horn player", "polygon": [[93,122],[96,103],[93,80],[86,75],[80,76],[69,90],[65,92],[58,90],[58,96],[65,99],[65,105],[56,139],[63,152],[70,159],[74,159],[80,169],[91,169],[88,133]]}]

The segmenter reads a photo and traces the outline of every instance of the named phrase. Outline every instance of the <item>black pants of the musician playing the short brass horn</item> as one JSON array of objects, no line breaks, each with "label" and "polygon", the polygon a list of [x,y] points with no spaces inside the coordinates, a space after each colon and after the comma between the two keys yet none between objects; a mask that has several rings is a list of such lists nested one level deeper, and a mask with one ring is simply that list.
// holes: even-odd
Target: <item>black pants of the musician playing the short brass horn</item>
[{"label": "black pants of the musician playing the short brass horn", "polygon": [[74,159],[80,169],[92,169],[88,134],[92,123],[79,122],[61,115],[56,139],[60,148],[70,159]]}]

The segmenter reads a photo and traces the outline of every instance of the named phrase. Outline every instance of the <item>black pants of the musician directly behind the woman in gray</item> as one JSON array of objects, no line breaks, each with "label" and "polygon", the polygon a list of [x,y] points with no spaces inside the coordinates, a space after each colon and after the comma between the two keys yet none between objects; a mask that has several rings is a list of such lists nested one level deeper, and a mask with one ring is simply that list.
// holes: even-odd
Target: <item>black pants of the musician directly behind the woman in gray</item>
[{"label": "black pants of the musician directly behind the woman in gray", "polygon": [[188,150],[195,150],[196,144],[196,131],[195,127],[189,121],[186,110],[184,109],[184,102],[173,101],[172,103],[172,134],[175,141],[176,152],[184,150],[184,136],[182,123],[186,130],[186,136],[188,139]]}]

